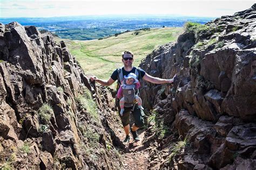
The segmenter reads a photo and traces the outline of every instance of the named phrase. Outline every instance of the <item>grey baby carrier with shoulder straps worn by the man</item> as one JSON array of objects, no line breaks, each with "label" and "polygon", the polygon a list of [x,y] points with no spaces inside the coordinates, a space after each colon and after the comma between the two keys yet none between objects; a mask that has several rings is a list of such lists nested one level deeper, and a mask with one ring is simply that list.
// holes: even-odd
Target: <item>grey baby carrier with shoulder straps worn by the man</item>
[{"label": "grey baby carrier with shoulder straps worn by the man", "polygon": [[[121,82],[124,79],[124,74],[123,74],[122,68],[123,67],[120,67],[117,69],[117,72],[118,72],[117,91],[118,91],[119,87],[121,86]],[[136,74],[136,76],[139,80],[142,77],[140,74],[140,68],[139,67],[135,67],[135,68],[136,69],[135,69],[134,74]],[[134,84],[126,85],[125,88],[123,88],[123,94],[125,96],[124,107],[125,108],[134,107],[136,104],[135,95],[139,95],[139,89],[136,89]],[[117,98],[117,95],[116,95],[116,107],[119,107],[119,99]]]}]

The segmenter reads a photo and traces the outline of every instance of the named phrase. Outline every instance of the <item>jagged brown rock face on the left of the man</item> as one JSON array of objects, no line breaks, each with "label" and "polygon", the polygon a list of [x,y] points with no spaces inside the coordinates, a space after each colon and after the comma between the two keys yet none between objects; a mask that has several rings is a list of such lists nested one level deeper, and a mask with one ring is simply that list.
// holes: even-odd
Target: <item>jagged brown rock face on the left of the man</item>
[{"label": "jagged brown rock face on the left of the man", "polygon": [[[52,34],[34,26],[0,24],[0,73],[1,168],[120,167],[117,154],[106,150],[112,145],[111,118],[93,122],[76,100],[84,89],[96,93],[97,114],[105,115],[111,109],[102,105],[111,107],[110,94],[103,89],[105,96],[98,97],[102,92],[91,87],[63,41],[56,44]],[[40,115],[45,103],[51,106],[48,119]],[[85,130],[100,133],[95,145],[89,146]]]}]

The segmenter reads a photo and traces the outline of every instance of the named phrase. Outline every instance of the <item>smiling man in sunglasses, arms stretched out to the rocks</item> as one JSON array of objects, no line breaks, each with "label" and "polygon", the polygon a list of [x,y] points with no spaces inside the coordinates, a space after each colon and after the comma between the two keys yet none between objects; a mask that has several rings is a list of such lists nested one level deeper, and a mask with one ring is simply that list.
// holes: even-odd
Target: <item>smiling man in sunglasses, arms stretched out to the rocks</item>
[{"label": "smiling man in sunglasses, arms stretched out to the rocks", "polygon": [[[122,68],[123,76],[127,76],[129,73],[135,73],[136,69],[138,70],[138,68],[132,66],[132,62],[133,62],[132,52],[125,51],[122,55],[122,61],[124,63],[124,67]],[[149,81],[149,82],[155,83],[155,84],[173,83],[173,80],[177,80],[176,75],[174,75],[173,79],[160,79],[158,77],[153,77],[153,76],[147,74],[143,69],[139,69],[139,72],[140,72],[139,77],[138,77],[139,80],[143,79],[145,81]],[[112,73],[109,80],[100,80],[96,76],[92,76],[90,79],[91,79],[91,81],[96,81],[96,82],[102,84],[103,86],[110,86],[111,84],[113,84],[113,82],[118,80],[118,76],[119,76],[118,69],[116,69]],[[133,110],[133,111],[131,111],[131,110]],[[143,116],[145,116],[145,114],[144,114],[143,110],[139,109],[138,104],[136,104],[134,109],[133,109],[133,107],[125,108],[123,116],[120,115],[120,108],[118,109],[118,112],[119,112],[119,116],[121,118],[122,124],[124,126],[124,131],[126,134],[124,142],[129,142],[129,140],[130,140],[129,130],[132,133],[134,141],[138,141],[139,137],[137,134],[137,130],[139,128],[141,128],[144,124]],[[134,124],[132,125],[132,128],[130,128],[130,124],[129,124],[130,123],[130,117],[129,117],[130,112],[132,112],[132,115],[134,117]]]}]

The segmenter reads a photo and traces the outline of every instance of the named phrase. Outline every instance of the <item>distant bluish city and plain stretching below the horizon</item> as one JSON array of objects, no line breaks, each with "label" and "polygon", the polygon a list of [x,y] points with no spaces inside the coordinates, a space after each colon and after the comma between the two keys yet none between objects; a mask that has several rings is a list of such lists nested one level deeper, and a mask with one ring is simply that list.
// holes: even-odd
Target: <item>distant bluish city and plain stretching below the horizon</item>
[{"label": "distant bluish city and plain stretching below the horizon", "polygon": [[60,38],[91,40],[112,34],[154,27],[181,27],[185,22],[205,24],[215,18],[180,16],[79,16],[52,18],[0,18],[0,23],[33,25]]}]

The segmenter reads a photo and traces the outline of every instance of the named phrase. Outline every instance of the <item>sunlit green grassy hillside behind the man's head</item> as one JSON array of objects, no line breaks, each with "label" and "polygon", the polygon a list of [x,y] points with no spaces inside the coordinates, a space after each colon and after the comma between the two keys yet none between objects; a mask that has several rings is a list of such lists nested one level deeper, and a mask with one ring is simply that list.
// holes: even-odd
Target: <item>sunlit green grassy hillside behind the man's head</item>
[{"label": "sunlit green grassy hillside behind the man's head", "polygon": [[138,66],[154,48],[175,41],[182,30],[182,27],[164,27],[125,32],[101,40],[65,39],[64,41],[71,54],[76,56],[86,75],[109,79],[113,70],[123,65],[122,52],[132,51],[133,65]]}]

